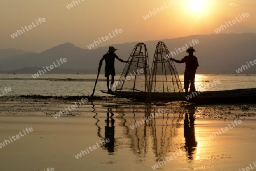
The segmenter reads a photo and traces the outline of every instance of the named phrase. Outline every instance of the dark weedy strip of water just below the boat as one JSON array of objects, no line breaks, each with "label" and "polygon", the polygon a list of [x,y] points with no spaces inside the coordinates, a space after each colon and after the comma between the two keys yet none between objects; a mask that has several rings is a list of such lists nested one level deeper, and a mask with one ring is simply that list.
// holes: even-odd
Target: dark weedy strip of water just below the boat
[{"label": "dark weedy strip of water just below the boat", "polygon": [[[81,98],[88,96],[54,97],[43,95],[20,95],[1,97],[0,116],[51,116],[58,114],[65,108],[79,104]],[[188,102],[134,102],[117,97],[94,97],[93,103],[88,102],[76,106],[72,111],[61,117],[94,116],[98,112],[105,113],[108,109],[118,114],[132,114],[135,111],[152,113],[163,109],[166,115],[183,115],[185,112],[196,118],[213,120],[256,119],[256,104],[221,104],[195,105]],[[96,110],[97,109],[97,110]],[[60,117],[60,118],[61,118]],[[59,119],[59,118],[57,118]]]}]

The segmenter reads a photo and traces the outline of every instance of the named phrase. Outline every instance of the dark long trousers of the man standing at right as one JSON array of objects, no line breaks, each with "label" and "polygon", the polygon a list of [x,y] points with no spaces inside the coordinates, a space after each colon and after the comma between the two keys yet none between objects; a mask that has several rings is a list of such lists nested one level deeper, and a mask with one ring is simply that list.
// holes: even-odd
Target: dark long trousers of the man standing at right
[{"label": "dark long trousers of the man standing at right", "polygon": [[189,84],[190,84],[189,92],[196,91],[195,77],[196,77],[196,72],[195,71],[185,70],[185,73],[184,73],[184,89],[185,89],[186,94],[188,94]]}]

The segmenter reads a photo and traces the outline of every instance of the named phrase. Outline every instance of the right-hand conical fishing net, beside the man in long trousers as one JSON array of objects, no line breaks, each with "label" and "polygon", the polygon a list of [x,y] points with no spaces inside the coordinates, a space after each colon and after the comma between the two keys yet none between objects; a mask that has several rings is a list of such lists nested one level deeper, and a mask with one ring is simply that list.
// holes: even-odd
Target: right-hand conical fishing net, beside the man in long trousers
[{"label": "right-hand conical fishing net, beside the man in long trousers", "polygon": [[170,60],[170,52],[166,45],[159,41],[156,45],[154,61],[151,68],[151,93],[181,93],[183,92],[179,75],[174,62]]}]

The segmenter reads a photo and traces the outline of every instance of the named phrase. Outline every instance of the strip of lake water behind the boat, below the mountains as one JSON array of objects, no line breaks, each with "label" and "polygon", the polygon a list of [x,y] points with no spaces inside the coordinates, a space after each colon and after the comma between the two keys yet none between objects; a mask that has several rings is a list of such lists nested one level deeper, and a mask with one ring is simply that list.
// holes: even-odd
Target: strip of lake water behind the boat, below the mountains
[{"label": "strip of lake water behind the boat, below the mountains", "polygon": [[[119,77],[119,75],[115,76],[115,80],[118,81]],[[31,74],[0,74],[2,79],[0,89],[11,87],[13,91],[6,95],[90,95],[97,74],[44,74],[38,78],[43,80],[34,79]],[[213,80],[220,80],[221,84],[212,87],[209,91],[256,87],[256,75],[197,74],[196,88],[200,90],[200,87],[209,85]],[[183,84],[183,75],[180,75],[180,81]],[[100,74],[94,95],[105,96],[106,94],[102,94],[100,90],[107,90],[104,74]]]}]

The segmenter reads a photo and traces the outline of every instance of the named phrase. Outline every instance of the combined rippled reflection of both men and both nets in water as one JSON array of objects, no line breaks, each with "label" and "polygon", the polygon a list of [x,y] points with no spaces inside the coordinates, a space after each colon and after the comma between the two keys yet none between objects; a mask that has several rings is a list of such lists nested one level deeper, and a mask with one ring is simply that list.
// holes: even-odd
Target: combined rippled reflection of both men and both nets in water
[{"label": "combined rippled reflection of both men and both nets in water", "polygon": [[[106,106],[105,106],[106,107]],[[109,155],[115,155],[120,141],[123,137],[128,139],[130,150],[136,155],[137,161],[146,161],[148,153],[154,153],[155,161],[163,161],[171,153],[184,150],[189,160],[195,157],[197,141],[195,137],[195,107],[188,107],[178,111],[165,110],[159,112],[151,104],[144,105],[143,110],[138,110],[138,106],[132,107],[129,111],[122,111],[119,106],[107,106],[106,119],[104,117],[105,137],[101,135],[103,123],[100,122],[93,106],[93,116],[96,119],[97,136],[101,139],[109,139],[110,142],[104,145],[104,149]],[[112,110],[115,109],[113,112]],[[161,109],[162,110],[162,109]],[[184,114],[184,111],[185,112]],[[115,119],[114,119],[115,116]],[[184,118],[183,118],[184,116]],[[121,128],[121,139],[115,136],[115,120],[118,121],[118,130]],[[184,137],[179,136],[184,120]],[[102,120],[103,121],[103,120]],[[119,132],[119,131],[118,131]],[[118,144],[118,147],[116,145]],[[123,142],[127,144],[126,142]]]}]

